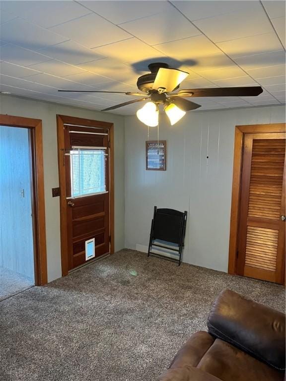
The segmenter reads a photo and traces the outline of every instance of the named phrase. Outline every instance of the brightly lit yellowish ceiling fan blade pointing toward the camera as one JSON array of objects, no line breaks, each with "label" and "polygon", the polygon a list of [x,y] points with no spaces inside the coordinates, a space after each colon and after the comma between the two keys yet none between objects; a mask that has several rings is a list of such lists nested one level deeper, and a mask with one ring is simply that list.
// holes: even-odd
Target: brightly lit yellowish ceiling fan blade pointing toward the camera
[{"label": "brightly lit yellowish ceiling fan blade pointing toward the camera", "polygon": [[173,91],[188,75],[186,71],[160,67],[152,88],[158,90],[162,87],[166,89],[166,92]]}]

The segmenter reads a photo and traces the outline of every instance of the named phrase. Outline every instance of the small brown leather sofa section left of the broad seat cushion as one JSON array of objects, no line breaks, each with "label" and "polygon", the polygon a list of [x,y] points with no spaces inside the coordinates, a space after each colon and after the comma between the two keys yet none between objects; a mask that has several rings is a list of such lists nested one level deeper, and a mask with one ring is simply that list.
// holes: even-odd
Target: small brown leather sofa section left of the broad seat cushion
[{"label": "small brown leather sofa section left of the broad seat cushion", "polygon": [[196,367],[213,343],[214,337],[208,332],[196,332],[177,352],[169,368]]}]

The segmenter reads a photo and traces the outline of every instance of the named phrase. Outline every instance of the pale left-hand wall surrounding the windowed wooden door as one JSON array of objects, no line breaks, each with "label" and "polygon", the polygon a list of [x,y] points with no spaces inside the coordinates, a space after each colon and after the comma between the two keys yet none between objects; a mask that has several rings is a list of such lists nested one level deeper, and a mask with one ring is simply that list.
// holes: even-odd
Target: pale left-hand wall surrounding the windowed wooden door
[{"label": "pale left-hand wall surrounding the windowed wooden door", "polygon": [[115,250],[124,247],[124,117],[71,106],[0,95],[0,114],[41,119],[43,123],[44,181],[48,281],[59,278],[60,198],[52,197],[59,186],[56,115],[69,115],[114,123]]}]

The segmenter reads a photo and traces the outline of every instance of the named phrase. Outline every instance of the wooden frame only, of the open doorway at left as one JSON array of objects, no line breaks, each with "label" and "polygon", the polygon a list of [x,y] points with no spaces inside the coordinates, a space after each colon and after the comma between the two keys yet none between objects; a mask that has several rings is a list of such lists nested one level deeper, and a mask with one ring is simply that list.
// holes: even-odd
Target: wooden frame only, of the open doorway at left
[{"label": "wooden frame only, of the open doorway at left", "polygon": [[0,125],[30,130],[35,285],[42,286],[48,283],[42,121],[0,114]]}]

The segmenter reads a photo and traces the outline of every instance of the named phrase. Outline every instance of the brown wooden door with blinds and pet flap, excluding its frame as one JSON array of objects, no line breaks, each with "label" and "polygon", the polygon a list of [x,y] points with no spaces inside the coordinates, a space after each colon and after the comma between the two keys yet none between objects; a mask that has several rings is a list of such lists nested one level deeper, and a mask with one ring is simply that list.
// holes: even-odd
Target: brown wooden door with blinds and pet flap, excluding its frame
[{"label": "brown wooden door with blinds and pet flap, excluding its frame", "polygon": [[65,125],[68,269],[109,253],[109,129]]}]

